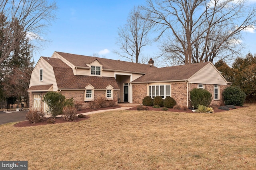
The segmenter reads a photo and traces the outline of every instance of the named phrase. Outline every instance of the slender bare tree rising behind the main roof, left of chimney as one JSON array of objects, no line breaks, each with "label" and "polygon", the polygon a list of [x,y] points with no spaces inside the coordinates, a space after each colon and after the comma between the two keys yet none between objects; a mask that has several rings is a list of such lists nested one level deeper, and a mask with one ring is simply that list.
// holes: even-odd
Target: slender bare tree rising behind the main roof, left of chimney
[{"label": "slender bare tree rising behind the main roof, left of chimney", "polygon": [[151,29],[150,22],[142,19],[142,10],[137,7],[130,12],[126,25],[118,29],[116,44],[120,49],[114,53],[138,63],[143,47],[150,45],[148,33]]}]

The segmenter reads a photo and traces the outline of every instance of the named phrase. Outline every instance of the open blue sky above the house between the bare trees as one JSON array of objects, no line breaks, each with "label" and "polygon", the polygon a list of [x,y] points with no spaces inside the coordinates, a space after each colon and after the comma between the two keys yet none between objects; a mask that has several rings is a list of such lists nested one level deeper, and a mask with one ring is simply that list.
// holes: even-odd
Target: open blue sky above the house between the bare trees
[{"label": "open blue sky above the house between the bare trees", "polygon": [[[255,0],[252,0],[255,2]],[[145,4],[145,0],[56,0],[57,19],[50,26],[46,39],[50,40],[39,53],[34,55],[37,63],[40,56],[51,57],[54,51],[92,56],[98,53],[108,59],[120,58],[113,53],[118,49],[116,37],[118,27],[126,24],[130,10]],[[256,53],[256,31],[244,34],[245,55]],[[156,56],[156,44],[148,46],[142,55]]]}]

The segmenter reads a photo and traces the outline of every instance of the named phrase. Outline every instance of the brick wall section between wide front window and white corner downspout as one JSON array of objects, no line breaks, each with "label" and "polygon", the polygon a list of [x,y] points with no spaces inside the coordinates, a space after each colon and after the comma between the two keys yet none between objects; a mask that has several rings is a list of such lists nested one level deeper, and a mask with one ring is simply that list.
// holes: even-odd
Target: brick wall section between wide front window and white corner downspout
[{"label": "brick wall section between wide front window and white corner downspout", "polygon": [[171,97],[180,106],[187,106],[187,83],[172,83]]}]

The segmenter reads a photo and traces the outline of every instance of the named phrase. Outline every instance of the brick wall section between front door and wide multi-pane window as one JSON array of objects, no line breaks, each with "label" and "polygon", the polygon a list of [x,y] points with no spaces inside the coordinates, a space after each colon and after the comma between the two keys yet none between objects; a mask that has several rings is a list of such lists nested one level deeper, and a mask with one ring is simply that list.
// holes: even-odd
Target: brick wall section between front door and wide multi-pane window
[{"label": "brick wall section between front door and wide multi-pane window", "polygon": [[136,104],[142,104],[142,100],[145,96],[148,96],[147,84],[132,84],[132,102]]}]

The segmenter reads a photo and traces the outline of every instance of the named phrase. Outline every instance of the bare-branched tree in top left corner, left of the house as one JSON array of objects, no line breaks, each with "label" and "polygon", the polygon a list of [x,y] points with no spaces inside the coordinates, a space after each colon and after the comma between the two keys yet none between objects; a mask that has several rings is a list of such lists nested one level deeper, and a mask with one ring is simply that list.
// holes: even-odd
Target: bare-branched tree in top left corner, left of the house
[{"label": "bare-branched tree in top left corner, left of the house", "polygon": [[45,41],[42,35],[55,19],[55,2],[47,0],[2,0],[0,2],[0,63],[7,59],[24,34]]}]

